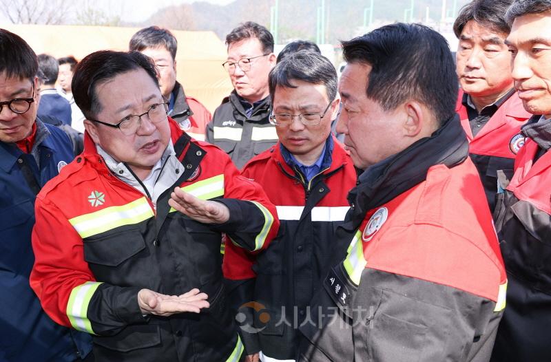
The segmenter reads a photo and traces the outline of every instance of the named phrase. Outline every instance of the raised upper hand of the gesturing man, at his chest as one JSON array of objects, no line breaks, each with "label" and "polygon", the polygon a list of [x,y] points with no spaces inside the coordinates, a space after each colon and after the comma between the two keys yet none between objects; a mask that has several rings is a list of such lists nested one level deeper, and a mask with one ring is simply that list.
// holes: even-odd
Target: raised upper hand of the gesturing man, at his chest
[{"label": "raised upper hand of the gesturing man, at his chest", "polygon": [[168,204],[171,207],[198,222],[222,224],[229,220],[229,209],[220,202],[200,200],[179,187],[174,189],[170,197]]}]

